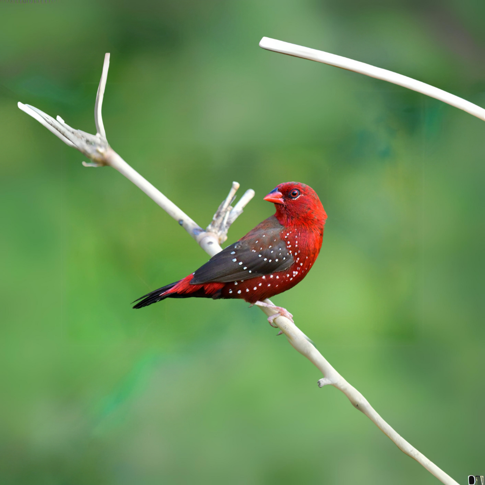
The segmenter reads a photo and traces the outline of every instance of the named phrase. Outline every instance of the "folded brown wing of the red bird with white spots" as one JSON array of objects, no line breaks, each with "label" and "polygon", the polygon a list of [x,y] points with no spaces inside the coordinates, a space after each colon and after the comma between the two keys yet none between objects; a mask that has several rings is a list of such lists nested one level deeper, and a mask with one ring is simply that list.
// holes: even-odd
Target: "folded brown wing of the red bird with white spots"
[{"label": "folded brown wing of the red bird with white spots", "polygon": [[276,227],[260,226],[212,256],[194,273],[190,283],[227,283],[288,269],[293,264],[293,256],[280,238],[283,226],[279,223]]}]

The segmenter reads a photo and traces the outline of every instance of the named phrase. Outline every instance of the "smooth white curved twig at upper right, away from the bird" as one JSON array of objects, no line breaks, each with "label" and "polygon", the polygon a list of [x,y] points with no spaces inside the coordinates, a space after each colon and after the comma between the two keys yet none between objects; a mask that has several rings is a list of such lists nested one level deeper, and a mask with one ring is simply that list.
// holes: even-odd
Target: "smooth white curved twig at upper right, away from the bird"
[{"label": "smooth white curved twig at upper right, away from the bird", "polygon": [[281,40],[271,39],[269,37],[263,37],[259,42],[259,47],[266,50],[273,50],[274,52],[280,52],[281,54],[288,54],[294,57],[309,59],[310,61],[334,65],[336,67],[341,67],[342,69],[365,74],[371,78],[392,82],[393,84],[398,84],[399,86],[412,89],[418,93],[439,99],[444,103],[451,104],[455,108],[459,108],[460,110],[473,114],[473,116],[476,116],[481,120],[485,120],[485,110],[480,106],[470,103],[461,97],[447,93],[442,89],[435,88],[434,86],[426,84],[425,82],[416,81],[415,79],[408,78],[402,74],[397,74],[396,72],[388,71],[387,69],[381,69],[380,67],[354,61],[353,59],[348,59],[347,57],[330,54],[329,52],[324,52],[323,50],[309,49],[308,47],[297,46],[296,44],[290,44],[289,42],[283,42]]}]

